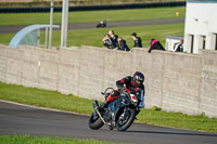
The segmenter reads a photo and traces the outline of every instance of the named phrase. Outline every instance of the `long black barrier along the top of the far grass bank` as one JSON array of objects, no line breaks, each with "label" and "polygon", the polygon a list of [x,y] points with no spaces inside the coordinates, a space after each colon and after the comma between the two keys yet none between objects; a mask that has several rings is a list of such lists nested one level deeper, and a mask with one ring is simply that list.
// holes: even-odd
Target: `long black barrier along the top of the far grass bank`
[{"label": "long black barrier along the top of the far grass bank", "polygon": [[[186,1],[137,3],[137,4],[115,4],[115,5],[84,5],[69,6],[69,11],[95,11],[95,10],[122,10],[122,9],[143,9],[162,6],[182,6]],[[0,8],[0,13],[43,13],[50,12],[50,8]],[[62,12],[61,6],[54,6],[54,12]]]}]

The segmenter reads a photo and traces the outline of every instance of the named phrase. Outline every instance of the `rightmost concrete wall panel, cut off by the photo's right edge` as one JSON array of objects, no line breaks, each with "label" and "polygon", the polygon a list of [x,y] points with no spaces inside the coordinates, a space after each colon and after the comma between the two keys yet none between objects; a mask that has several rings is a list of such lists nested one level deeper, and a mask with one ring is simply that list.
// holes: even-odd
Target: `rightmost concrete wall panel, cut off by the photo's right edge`
[{"label": "rightmost concrete wall panel, cut off by the photo's right edge", "polygon": [[217,51],[203,51],[200,113],[217,117]]}]

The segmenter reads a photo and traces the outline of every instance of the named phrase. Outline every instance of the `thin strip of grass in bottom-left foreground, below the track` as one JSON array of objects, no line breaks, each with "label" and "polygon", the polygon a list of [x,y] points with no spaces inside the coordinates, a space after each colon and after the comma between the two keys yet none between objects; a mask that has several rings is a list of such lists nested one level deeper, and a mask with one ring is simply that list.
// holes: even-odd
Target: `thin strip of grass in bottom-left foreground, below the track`
[{"label": "thin strip of grass in bottom-left foreground, below the track", "polygon": [[29,135],[0,135],[0,142],[2,144],[116,144],[116,142],[103,142],[98,140],[79,140],[46,136],[39,138]]}]

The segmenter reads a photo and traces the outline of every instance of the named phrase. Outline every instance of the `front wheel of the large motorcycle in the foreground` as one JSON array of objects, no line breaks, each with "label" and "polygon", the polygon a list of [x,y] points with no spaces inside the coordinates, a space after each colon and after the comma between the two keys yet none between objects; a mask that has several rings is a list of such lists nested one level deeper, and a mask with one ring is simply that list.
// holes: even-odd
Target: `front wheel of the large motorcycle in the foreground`
[{"label": "front wheel of the large motorcycle in the foreground", "polygon": [[[126,112],[127,110],[127,112]],[[124,113],[119,116],[117,120],[117,130],[126,131],[133,122],[136,118],[136,109],[135,108],[126,108]]]}]

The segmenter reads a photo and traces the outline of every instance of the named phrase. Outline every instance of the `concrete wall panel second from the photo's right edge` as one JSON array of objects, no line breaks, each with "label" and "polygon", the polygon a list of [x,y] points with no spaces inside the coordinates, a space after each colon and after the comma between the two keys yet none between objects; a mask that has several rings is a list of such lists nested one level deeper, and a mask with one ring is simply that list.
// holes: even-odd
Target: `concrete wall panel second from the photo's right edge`
[{"label": "concrete wall panel second from the photo's right edge", "polygon": [[199,114],[201,56],[166,54],[164,63],[163,104],[169,110]]}]

